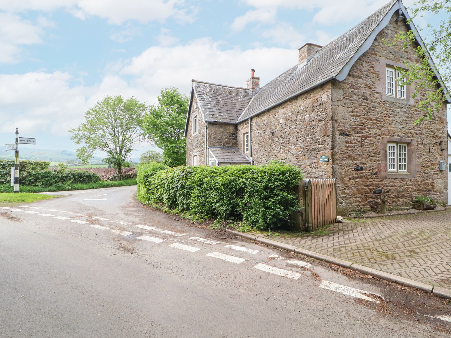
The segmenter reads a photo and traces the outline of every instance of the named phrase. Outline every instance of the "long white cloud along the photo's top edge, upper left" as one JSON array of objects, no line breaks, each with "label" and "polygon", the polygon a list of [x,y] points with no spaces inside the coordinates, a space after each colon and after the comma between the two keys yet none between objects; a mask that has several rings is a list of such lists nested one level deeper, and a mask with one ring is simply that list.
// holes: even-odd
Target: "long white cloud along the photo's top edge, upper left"
[{"label": "long white cloud along the photo's top edge, upper left", "polygon": [[192,21],[195,9],[187,9],[183,6],[183,0],[0,0],[0,10],[8,12],[27,10],[49,12],[65,9],[81,19],[93,15],[105,18],[113,24],[121,24],[129,20],[140,23],[162,22],[170,16],[175,16],[184,22]]}]

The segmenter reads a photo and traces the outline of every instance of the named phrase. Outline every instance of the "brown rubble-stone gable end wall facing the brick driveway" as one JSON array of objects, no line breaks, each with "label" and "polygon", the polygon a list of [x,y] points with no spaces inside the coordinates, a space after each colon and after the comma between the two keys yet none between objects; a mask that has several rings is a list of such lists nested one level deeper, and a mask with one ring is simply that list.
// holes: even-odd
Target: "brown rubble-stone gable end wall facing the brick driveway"
[{"label": "brown rubble-stone gable end wall facing the brick driveway", "polygon": [[[402,66],[405,59],[415,57],[413,49],[403,51],[402,46],[390,47],[382,41],[392,41],[397,32],[407,31],[404,23],[395,23],[395,18],[396,15],[356,61],[345,81],[332,82],[335,124],[332,175],[337,178],[341,214],[380,210],[381,195],[373,194],[378,188],[389,191],[386,194],[388,210],[412,207],[410,200],[416,195],[427,194],[439,201],[447,199],[447,173],[438,169],[438,162],[446,161],[446,151],[441,151],[438,144],[440,141],[446,144],[446,105],[432,121],[414,126],[413,122],[421,116],[415,111],[418,100],[396,99],[385,94],[386,65]],[[408,88],[408,96],[412,92]],[[408,151],[408,157],[416,155],[416,164],[408,168],[408,171],[416,171],[412,177],[385,178],[396,175],[387,175],[384,164],[387,153],[384,144],[381,146],[382,137],[416,142]],[[429,151],[434,142],[437,144]],[[414,162],[414,158],[411,160]]]}]

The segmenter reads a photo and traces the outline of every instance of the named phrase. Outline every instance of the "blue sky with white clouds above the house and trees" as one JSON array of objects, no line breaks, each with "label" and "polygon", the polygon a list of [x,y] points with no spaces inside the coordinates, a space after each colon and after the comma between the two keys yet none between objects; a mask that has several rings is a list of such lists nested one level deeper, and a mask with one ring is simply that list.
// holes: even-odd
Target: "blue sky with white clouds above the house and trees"
[{"label": "blue sky with white clouds above the house and trees", "polygon": [[188,96],[191,79],[245,87],[250,69],[264,85],[299,47],[324,46],[387,2],[0,0],[0,145],[17,127],[38,149],[73,151],[69,128],[105,96],[151,105],[164,87]]}]

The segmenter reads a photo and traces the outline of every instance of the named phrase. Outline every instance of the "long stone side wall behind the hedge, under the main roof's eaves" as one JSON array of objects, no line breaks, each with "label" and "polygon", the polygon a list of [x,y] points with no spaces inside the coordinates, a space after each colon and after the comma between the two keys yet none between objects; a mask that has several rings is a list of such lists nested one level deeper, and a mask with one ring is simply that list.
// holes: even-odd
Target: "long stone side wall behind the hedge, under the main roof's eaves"
[{"label": "long stone side wall behind the hedge, under the main roof's eaves", "polygon": [[[286,101],[252,119],[252,157],[255,164],[283,160],[301,168],[306,178],[331,178],[331,83]],[[248,122],[239,123],[237,143],[243,149]]]}]

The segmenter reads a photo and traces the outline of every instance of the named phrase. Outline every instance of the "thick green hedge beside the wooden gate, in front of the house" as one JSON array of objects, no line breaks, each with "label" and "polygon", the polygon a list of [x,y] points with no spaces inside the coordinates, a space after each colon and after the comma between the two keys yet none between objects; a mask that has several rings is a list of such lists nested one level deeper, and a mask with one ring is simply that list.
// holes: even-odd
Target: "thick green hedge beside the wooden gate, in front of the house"
[{"label": "thick green hedge beside the wooden gate, in front of the house", "polygon": [[289,224],[298,210],[300,169],[274,162],[264,165],[175,167],[141,164],[138,199],[207,218],[238,219],[258,229]]}]

